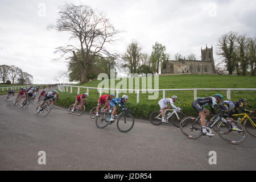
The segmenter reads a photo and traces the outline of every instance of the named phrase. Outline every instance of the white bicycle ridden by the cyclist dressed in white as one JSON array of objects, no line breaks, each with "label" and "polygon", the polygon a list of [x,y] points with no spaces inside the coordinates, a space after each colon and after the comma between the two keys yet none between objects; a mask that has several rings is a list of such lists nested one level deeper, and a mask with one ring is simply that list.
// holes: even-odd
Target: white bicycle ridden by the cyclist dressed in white
[{"label": "white bicycle ridden by the cyclist dressed in white", "polygon": [[[185,115],[181,111],[177,112],[175,109],[167,109],[164,112],[164,118],[166,118],[166,121],[168,121],[168,119],[171,118],[172,124],[176,127],[180,127],[181,119],[183,119],[186,116],[187,115]],[[161,125],[162,124],[162,110],[152,111],[152,113],[150,113],[149,119],[153,125]]]}]

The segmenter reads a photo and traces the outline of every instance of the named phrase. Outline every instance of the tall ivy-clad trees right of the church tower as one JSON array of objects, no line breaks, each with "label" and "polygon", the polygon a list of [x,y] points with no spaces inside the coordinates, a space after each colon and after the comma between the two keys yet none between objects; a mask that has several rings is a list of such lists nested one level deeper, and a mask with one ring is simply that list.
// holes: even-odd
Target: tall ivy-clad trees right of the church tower
[{"label": "tall ivy-clad trees right of the church tower", "polygon": [[252,76],[256,72],[256,38],[228,32],[218,40],[218,55],[224,58],[225,67],[229,75]]}]

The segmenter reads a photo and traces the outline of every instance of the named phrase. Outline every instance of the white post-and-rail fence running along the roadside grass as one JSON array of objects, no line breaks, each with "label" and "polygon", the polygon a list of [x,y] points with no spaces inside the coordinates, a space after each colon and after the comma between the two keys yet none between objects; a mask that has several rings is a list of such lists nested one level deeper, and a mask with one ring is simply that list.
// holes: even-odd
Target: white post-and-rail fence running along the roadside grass
[{"label": "white post-and-rail fence running along the roadside grass", "polygon": [[73,88],[77,88],[77,95],[80,94],[80,88],[86,88],[87,93],[89,93],[89,89],[97,89],[99,90],[99,94],[101,96],[102,90],[114,90],[116,92],[116,97],[118,97],[118,93],[120,90],[125,90],[125,91],[133,91],[137,94],[137,103],[139,103],[139,93],[143,92],[156,92],[160,91],[163,92],[163,98],[166,97],[166,91],[181,91],[181,90],[193,90],[194,92],[194,100],[197,98],[197,90],[225,90],[226,91],[226,97],[228,100],[231,100],[231,91],[232,90],[255,90],[256,89],[148,89],[148,90],[133,90],[133,89],[105,89],[105,88],[94,88],[94,87],[87,87],[87,86],[71,86],[71,85],[58,85],[58,89],[60,92],[68,92],[68,88],[70,87],[70,93],[72,93]]}]

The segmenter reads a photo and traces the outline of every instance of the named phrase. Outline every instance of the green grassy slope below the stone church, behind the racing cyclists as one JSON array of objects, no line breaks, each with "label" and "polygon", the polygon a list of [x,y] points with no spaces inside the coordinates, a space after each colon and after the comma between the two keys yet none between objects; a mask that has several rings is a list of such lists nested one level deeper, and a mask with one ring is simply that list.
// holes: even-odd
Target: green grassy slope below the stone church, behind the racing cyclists
[{"label": "green grassy slope below the stone church, behind the racing cyclists", "polygon": [[[134,80],[134,78],[131,78]],[[142,78],[139,78],[140,84],[139,89],[142,87]],[[110,80],[109,85],[110,85]],[[129,79],[123,80],[127,82],[129,86]],[[101,81],[90,81],[80,86],[98,87]],[[120,80],[115,80],[115,85],[118,85]],[[120,87],[122,89],[122,86]],[[132,88],[135,88],[135,81],[133,81]],[[256,88],[256,77],[253,76],[231,76],[231,75],[177,75],[177,76],[159,76],[159,88],[158,89],[185,89],[185,88]],[[136,89],[136,88],[135,88]],[[154,88],[154,77],[152,78],[152,89]],[[59,105],[68,107],[75,102],[77,96],[77,88],[72,89],[72,94],[69,92],[60,92]],[[86,89],[80,89],[80,94],[87,92]],[[108,92],[110,93],[110,92]],[[220,93],[226,98],[226,91],[217,90],[205,90],[197,91],[197,97],[213,96],[215,93]],[[104,93],[105,94],[105,93]],[[139,104],[137,104],[137,94],[135,93],[119,93],[119,97],[123,94],[129,96],[127,106],[133,111],[135,117],[148,118],[148,115],[153,110],[159,110],[158,101],[163,98],[163,92],[158,93],[158,97],[155,100],[148,100],[149,95],[152,93],[140,93]],[[191,103],[193,102],[193,90],[189,91],[166,91],[166,97],[176,95],[178,101],[175,103],[176,106],[183,107],[183,111],[187,115],[196,115],[195,110],[192,109]],[[256,91],[232,91],[231,99],[238,100],[238,98],[246,98],[248,100],[248,108],[256,108]],[[89,89],[88,102],[89,105],[86,110],[90,110],[92,107],[97,105],[99,93],[97,90]]]}]

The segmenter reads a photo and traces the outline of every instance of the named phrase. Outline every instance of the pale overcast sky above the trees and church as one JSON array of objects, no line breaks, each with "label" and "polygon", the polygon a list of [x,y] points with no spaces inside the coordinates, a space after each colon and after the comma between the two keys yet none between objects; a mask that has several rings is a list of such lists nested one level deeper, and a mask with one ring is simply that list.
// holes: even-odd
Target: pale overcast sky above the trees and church
[{"label": "pale overcast sky above the trees and church", "polygon": [[[103,11],[121,40],[115,51],[124,53],[136,40],[143,53],[151,54],[155,42],[166,46],[166,53],[201,59],[201,47],[213,45],[214,61],[218,38],[229,31],[256,36],[256,1],[192,0],[83,0],[66,1]],[[64,1],[0,0],[0,64],[16,65],[34,76],[34,83],[55,83],[57,73],[67,65],[57,58],[55,48],[70,44],[68,33],[48,31],[58,18]],[[45,7],[45,9],[44,9]],[[63,78],[59,82],[63,82]],[[68,82],[68,78],[65,78]]]}]

